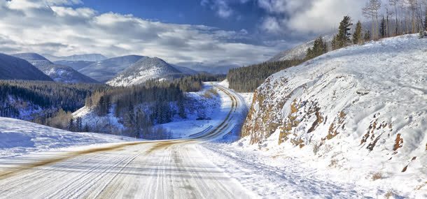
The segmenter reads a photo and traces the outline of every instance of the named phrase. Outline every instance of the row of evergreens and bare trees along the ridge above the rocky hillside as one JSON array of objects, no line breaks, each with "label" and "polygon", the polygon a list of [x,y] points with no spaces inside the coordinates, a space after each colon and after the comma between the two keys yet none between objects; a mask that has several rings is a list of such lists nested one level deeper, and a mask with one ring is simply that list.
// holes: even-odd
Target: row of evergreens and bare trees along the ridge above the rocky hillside
[{"label": "row of evergreens and bare trees along the ridge above the rocky hillside", "polygon": [[[381,10],[385,13],[381,14]],[[388,5],[381,7],[381,1],[368,0],[362,9],[363,15],[371,20],[372,28],[363,29],[362,22],[358,21],[352,31],[351,17],[344,16],[339,22],[338,33],[330,42],[331,50],[337,50],[349,45],[362,45],[370,40],[398,36],[400,34],[415,34],[427,31],[427,1],[426,0],[388,0]],[[423,16],[424,15],[424,19]],[[391,17],[395,22],[391,22]],[[382,19],[379,19],[379,17]],[[379,21],[380,20],[380,21]],[[314,40],[306,56],[302,60],[286,60],[265,62],[251,66],[234,68],[228,72],[227,80],[230,88],[239,92],[253,92],[268,78],[269,75],[296,66],[303,61],[313,59],[328,52],[328,43],[322,37]]]}]

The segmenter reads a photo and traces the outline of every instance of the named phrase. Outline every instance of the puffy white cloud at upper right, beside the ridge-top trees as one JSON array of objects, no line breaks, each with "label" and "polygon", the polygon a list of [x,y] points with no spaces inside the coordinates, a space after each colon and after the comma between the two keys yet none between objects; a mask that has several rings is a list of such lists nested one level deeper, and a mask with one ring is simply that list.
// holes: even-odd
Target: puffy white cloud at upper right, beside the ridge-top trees
[{"label": "puffy white cloud at upper right, beside the ridge-top trees", "polygon": [[258,5],[271,15],[265,17],[260,26],[265,31],[274,32],[276,27],[281,27],[282,31],[323,34],[337,27],[344,15],[360,19],[365,1],[258,0]]}]

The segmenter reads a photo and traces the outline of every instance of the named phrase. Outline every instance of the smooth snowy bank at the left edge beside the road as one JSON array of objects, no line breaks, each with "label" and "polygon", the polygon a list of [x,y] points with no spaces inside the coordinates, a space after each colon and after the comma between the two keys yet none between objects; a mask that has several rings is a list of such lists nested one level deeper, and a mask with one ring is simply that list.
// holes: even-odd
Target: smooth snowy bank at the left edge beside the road
[{"label": "smooth snowy bank at the left edge beside the road", "polygon": [[99,133],[74,133],[19,119],[0,117],[0,158],[64,147],[131,140],[134,138]]}]

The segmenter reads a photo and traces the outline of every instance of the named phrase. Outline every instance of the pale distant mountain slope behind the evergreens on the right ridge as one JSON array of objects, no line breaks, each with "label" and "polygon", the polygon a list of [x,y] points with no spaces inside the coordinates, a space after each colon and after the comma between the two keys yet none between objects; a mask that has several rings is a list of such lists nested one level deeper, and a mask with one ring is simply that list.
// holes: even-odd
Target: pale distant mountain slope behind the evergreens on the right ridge
[{"label": "pale distant mountain slope behind the evergreens on the right ridge", "polygon": [[[330,43],[332,41],[333,36],[334,35],[331,34],[331,35],[323,36],[322,38],[326,42]],[[290,60],[290,59],[304,59],[305,54],[307,54],[307,49],[309,49],[309,47],[313,47],[313,45],[314,45],[314,40],[310,40],[306,43],[302,43],[301,45],[297,45],[291,48],[290,50],[279,52],[268,61],[271,62],[271,61],[284,61],[284,60]]]}]

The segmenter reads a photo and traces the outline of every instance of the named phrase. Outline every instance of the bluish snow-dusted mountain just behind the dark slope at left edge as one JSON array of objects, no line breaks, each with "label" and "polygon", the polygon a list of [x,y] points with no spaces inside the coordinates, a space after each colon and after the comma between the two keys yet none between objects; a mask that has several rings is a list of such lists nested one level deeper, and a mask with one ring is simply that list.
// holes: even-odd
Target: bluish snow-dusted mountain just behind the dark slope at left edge
[{"label": "bluish snow-dusted mountain just behind the dark slope at left edge", "polygon": [[13,57],[18,57],[29,61],[36,66],[40,71],[48,75],[55,82],[64,83],[97,83],[96,80],[87,77],[69,66],[53,64],[40,54],[28,52],[20,54],[12,54]]}]

